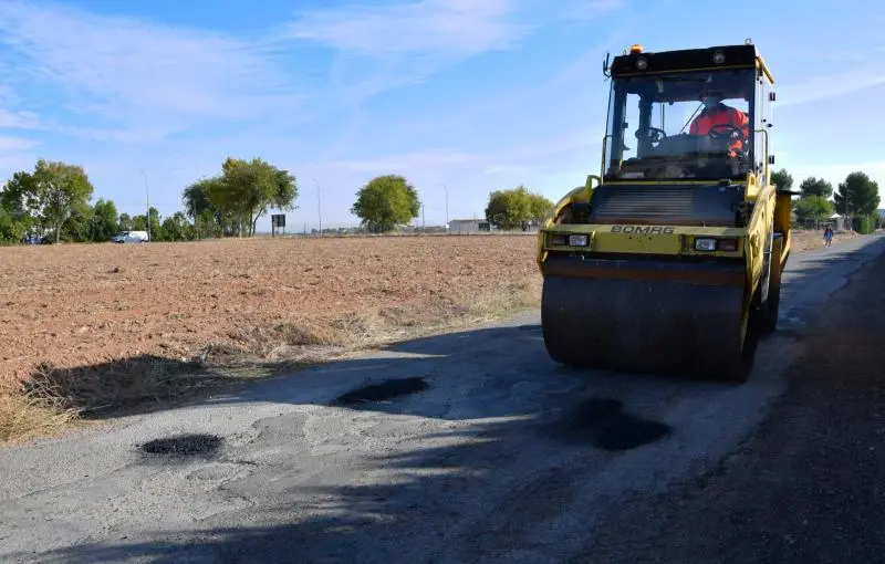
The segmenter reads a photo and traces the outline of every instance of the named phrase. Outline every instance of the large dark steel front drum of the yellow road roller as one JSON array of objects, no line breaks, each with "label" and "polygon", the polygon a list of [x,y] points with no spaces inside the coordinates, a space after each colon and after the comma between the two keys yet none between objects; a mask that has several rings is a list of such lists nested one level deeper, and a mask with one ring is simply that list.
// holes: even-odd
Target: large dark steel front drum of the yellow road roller
[{"label": "large dark steel front drum of the yellow road roller", "polygon": [[[671,273],[669,264],[633,267],[646,275],[545,274],[541,324],[554,361],[620,372],[747,377],[756,342],[748,332],[742,346],[742,285],[686,281],[690,270],[670,276],[684,280],[647,275]],[[697,278],[711,273],[715,268]]]}]

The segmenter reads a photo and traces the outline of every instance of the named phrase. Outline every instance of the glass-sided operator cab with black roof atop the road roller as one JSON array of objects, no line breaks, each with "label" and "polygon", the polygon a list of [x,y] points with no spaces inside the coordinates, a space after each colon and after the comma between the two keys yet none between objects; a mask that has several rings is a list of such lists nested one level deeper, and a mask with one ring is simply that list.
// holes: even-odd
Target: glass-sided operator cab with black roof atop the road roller
[{"label": "glass-sided operator cab with black roof atop the road roller", "polygon": [[[608,180],[743,179],[766,169],[771,76],[752,44],[615,58],[603,176]],[[737,109],[702,135],[706,96]],[[737,123],[736,123],[737,122]]]}]

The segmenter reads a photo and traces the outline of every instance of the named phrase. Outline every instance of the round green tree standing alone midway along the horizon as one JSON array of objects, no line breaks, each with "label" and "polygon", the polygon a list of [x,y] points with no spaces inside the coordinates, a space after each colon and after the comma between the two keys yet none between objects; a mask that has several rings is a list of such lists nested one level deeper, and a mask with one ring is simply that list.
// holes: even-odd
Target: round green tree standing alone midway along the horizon
[{"label": "round green tree standing alone midway along the horizon", "polygon": [[373,232],[388,232],[418,217],[418,192],[398,175],[373,178],[356,192],[351,213]]}]

